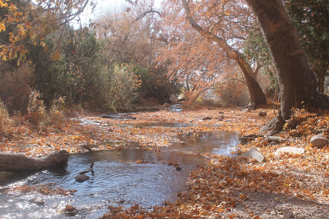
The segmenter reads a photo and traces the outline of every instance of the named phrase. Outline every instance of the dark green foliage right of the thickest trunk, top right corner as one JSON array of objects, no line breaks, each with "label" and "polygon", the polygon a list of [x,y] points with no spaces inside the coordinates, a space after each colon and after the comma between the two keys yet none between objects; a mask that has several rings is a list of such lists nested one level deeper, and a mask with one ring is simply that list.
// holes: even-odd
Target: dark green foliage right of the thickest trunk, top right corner
[{"label": "dark green foliage right of the thickest trunk, top right corner", "polygon": [[317,76],[319,93],[329,70],[329,4],[320,0],[289,0],[285,7],[297,27],[310,67]]}]

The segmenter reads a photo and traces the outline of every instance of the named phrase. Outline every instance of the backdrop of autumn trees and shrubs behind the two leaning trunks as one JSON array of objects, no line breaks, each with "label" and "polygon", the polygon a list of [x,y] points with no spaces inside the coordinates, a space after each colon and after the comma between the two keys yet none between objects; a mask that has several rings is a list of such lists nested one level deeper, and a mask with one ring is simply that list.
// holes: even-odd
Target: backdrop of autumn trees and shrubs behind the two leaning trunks
[{"label": "backdrop of autumn trees and shrubs behind the two leaning trunks", "polygon": [[[0,99],[10,114],[26,113],[35,98],[47,109],[53,101],[65,100],[67,107],[113,111],[127,111],[144,98],[163,104],[179,95],[193,105],[243,107],[255,102],[248,93],[254,86],[248,86],[249,76],[240,62],[220,43],[197,34],[180,2],[163,1],[155,9],[153,1],[128,1],[102,11],[88,27],[77,30],[71,24],[79,20],[79,13],[97,5],[1,4]],[[60,7],[52,8],[55,4]],[[278,99],[277,72],[249,7],[243,1],[190,5],[197,22],[239,53],[261,91]],[[317,76],[318,92],[323,93],[329,60],[328,5],[285,1],[285,7]],[[259,103],[266,103],[265,96]]]}]

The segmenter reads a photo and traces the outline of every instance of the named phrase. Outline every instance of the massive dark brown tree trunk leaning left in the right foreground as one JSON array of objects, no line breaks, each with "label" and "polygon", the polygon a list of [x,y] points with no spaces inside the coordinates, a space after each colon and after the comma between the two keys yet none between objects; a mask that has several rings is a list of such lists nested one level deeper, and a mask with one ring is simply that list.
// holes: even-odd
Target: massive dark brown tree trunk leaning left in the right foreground
[{"label": "massive dark brown tree trunk leaning left in the right foreground", "polygon": [[291,109],[329,108],[329,98],[317,92],[317,81],[307,62],[297,29],[281,0],[246,0],[256,15],[275,63],[284,119]]}]

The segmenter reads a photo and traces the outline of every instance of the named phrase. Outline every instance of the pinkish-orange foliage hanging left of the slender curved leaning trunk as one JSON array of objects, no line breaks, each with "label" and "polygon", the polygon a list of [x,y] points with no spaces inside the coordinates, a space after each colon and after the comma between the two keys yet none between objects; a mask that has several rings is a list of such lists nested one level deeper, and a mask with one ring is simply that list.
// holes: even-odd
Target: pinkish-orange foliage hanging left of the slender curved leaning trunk
[{"label": "pinkish-orange foliage hanging left of the slender curved leaning trunk", "polygon": [[226,89],[229,81],[239,81],[246,87],[243,74],[232,59],[216,43],[195,34],[180,6],[168,1],[164,8],[156,40],[160,45],[157,61],[167,63],[168,78],[183,87],[187,100],[193,102],[209,90]]}]

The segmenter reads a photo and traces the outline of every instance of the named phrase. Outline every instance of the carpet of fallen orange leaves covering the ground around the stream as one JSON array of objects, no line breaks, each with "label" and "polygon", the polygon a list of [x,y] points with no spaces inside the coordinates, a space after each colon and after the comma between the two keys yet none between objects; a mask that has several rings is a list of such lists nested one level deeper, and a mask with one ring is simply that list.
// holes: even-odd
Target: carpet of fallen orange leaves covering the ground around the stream
[{"label": "carpet of fallen orange leaves covering the ground around the stream", "polygon": [[[276,115],[273,108],[278,109],[279,105],[263,105],[252,112],[241,112],[240,108],[160,110],[135,113],[136,120],[124,121],[99,118],[92,112],[75,112],[74,116],[67,116],[61,133],[37,131],[25,125],[18,127],[12,136],[1,135],[0,150],[40,157],[61,149],[77,153],[82,150],[81,145],[99,145],[94,150],[122,149],[127,147],[127,142],[137,142],[136,147],[145,150],[161,150],[184,133],[231,131],[242,135],[257,134],[260,127]],[[259,111],[267,111],[267,116],[259,116]],[[219,115],[224,115],[225,119],[201,119]],[[328,115],[328,111],[295,110],[284,131],[277,134],[289,141],[271,145],[256,138],[238,146],[241,153],[256,148],[266,156],[267,162],[207,155],[211,160],[190,173],[186,189],[177,192],[175,202],[164,201],[163,205],[151,208],[109,206],[102,218],[329,218],[329,148],[316,149],[309,142],[319,133],[328,137]],[[100,121],[100,125],[81,125],[79,118]],[[177,122],[199,126],[106,126],[122,122]],[[275,155],[278,148],[285,146],[302,147],[305,153]]]}]

